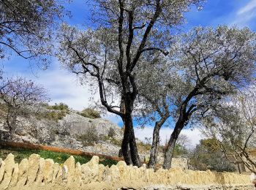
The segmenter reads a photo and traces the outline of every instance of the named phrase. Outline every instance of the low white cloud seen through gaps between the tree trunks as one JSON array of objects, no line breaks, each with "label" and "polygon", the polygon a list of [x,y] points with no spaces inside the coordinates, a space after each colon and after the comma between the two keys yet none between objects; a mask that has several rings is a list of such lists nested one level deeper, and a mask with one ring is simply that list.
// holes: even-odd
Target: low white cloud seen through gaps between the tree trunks
[{"label": "low white cloud seen through gaps between the tree trunks", "polygon": [[[138,137],[139,140],[144,141],[145,137],[152,137],[153,135],[153,127],[145,127],[144,129],[135,129],[135,137]],[[170,134],[173,132],[173,129],[164,127],[160,130],[160,138],[161,143],[165,143],[166,140],[168,141],[170,138]],[[192,146],[195,147],[195,145],[199,144],[199,141],[203,138],[201,136],[201,132],[199,129],[195,128],[193,130],[191,129],[183,129],[181,131],[181,134],[186,134],[189,140],[192,142]]]}]

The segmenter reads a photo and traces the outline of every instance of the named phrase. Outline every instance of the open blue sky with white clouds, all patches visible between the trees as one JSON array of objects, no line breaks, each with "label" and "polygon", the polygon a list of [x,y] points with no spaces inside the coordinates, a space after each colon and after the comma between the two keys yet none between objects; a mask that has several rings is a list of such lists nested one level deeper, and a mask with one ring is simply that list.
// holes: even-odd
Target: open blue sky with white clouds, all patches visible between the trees
[{"label": "open blue sky with white clouds, all patches visible between the trees", "polygon": [[[73,0],[71,4],[65,5],[71,11],[72,17],[66,18],[67,23],[79,27],[90,26],[89,6],[86,1]],[[239,28],[249,27],[252,31],[256,31],[256,0],[208,0],[203,9],[197,11],[193,8],[191,12],[185,14],[187,23],[178,28],[181,31],[187,31],[194,26],[213,26],[236,25]],[[86,21],[87,20],[87,21]],[[65,102],[75,110],[82,110],[83,107],[89,107],[91,97],[97,99],[97,94],[91,94],[87,86],[80,86],[77,78],[61,68],[61,65],[52,58],[49,69],[43,71],[37,66],[31,66],[28,61],[12,55],[8,60],[1,60],[0,65],[4,65],[4,71],[8,76],[23,76],[37,81],[48,89],[51,103]],[[115,123],[121,125],[120,118],[114,115],[106,115]],[[151,137],[152,127],[148,126],[142,129],[135,129],[137,137],[143,140],[144,137]],[[172,129],[162,130],[162,141],[170,135]],[[192,144],[200,140],[200,132],[198,129],[191,131],[185,129],[184,132],[192,140]]]}]

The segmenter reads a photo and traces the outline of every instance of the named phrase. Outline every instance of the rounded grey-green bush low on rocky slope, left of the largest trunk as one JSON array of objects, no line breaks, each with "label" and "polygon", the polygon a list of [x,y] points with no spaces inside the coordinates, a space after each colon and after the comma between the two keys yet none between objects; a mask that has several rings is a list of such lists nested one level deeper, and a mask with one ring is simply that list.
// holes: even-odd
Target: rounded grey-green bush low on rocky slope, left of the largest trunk
[{"label": "rounded grey-green bush low on rocky slope, left of the largest trunk", "polygon": [[78,140],[80,140],[83,145],[94,145],[99,141],[96,128],[94,126],[89,127],[84,134],[78,136]]}]

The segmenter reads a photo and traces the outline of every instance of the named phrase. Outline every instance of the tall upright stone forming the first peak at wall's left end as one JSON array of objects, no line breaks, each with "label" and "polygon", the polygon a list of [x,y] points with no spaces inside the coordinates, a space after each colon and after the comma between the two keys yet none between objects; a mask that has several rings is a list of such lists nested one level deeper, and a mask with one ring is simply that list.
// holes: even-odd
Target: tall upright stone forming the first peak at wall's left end
[{"label": "tall upright stone forming the first peak at wall's left end", "polygon": [[8,154],[7,158],[4,159],[4,163],[4,179],[1,181],[0,189],[7,189],[11,182],[12,171],[15,165],[14,156],[12,153]]}]

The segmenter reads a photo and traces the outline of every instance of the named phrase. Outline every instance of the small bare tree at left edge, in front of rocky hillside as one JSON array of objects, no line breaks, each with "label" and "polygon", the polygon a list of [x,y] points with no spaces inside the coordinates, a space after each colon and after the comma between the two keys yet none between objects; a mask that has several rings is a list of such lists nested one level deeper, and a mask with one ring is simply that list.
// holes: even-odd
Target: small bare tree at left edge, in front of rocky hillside
[{"label": "small bare tree at left edge, in front of rocky hillside", "polygon": [[5,121],[10,137],[15,134],[18,117],[36,112],[36,106],[47,100],[45,89],[31,80],[18,77],[0,80],[0,100],[7,107]]}]

